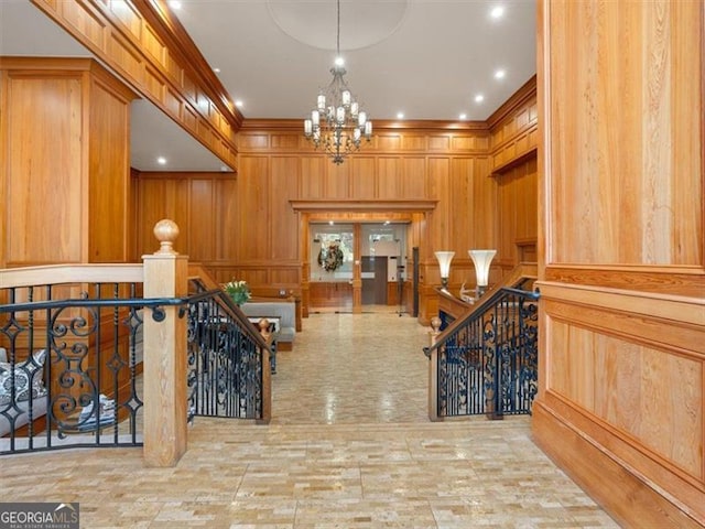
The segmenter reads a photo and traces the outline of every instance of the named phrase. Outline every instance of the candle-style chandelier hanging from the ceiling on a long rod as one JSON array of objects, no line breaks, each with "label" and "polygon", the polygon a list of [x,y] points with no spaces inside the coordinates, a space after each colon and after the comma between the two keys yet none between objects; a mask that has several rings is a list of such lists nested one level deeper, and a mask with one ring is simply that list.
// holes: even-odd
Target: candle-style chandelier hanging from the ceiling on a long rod
[{"label": "candle-style chandelier hanging from the ceiling on a long rod", "polygon": [[360,149],[362,138],[372,138],[372,122],[355,100],[340,57],[340,0],[338,0],[338,28],[335,66],[330,68],[333,80],[318,93],[316,108],[304,120],[304,134],[315,149],[325,151],[333,163],[339,165],[345,156]]}]

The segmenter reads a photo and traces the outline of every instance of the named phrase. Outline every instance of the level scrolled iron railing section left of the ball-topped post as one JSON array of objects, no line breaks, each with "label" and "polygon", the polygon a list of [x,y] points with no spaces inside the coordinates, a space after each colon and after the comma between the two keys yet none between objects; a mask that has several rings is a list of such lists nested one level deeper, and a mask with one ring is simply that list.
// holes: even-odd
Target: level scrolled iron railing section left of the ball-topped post
[{"label": "level scrolled iron railing section left of the ball-topped post", "polygon": [[137,283],[96,283],[79,299],[53,299],[76,288],[2,291],[2,454],[141,444],[143,312],[160,321],[171,300],[139,299]]}]

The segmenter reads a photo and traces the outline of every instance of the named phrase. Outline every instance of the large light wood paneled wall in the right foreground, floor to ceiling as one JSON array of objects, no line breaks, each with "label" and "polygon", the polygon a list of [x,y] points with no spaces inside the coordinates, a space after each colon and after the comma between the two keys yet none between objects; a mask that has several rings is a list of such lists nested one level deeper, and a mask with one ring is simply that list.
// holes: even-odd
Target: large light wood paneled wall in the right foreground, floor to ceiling
[{"label": "large light wood paneled wall in the right foreground, floor to ceiling", "polygon": [[703,527],[704,4],[539,21],[534,436],[626,527]]}]

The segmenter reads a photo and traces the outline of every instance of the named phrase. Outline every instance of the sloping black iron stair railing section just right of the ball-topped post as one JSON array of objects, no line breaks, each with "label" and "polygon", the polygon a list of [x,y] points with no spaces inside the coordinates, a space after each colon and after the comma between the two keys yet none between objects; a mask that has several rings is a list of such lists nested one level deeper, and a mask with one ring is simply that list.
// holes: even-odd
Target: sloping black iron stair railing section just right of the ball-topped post
[{"label": "sloping black iron stair railing section just right of the ball-topped post", "polygon": [[192,415],[269,421],[269,344],[220,289],[192,280],[188,409]]}]

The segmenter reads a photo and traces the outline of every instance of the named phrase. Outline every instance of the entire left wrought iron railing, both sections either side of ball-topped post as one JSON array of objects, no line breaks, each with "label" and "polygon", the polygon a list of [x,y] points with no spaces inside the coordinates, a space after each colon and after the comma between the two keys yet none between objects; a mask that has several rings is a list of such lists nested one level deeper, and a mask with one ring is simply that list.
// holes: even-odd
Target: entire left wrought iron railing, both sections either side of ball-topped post
[{"label": "entire left wrought iron railing, both sections either side of ball-topped post", "polygon": [[[140,298],[142,283],[0,290],[0,454],[139,446],[143,319],[187,316],[189,413],[267,422],[269,345],[220,289]],[[61,299],[59,299],[61,298]]]}]

